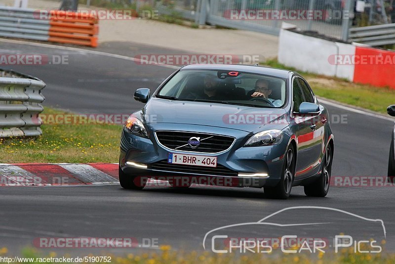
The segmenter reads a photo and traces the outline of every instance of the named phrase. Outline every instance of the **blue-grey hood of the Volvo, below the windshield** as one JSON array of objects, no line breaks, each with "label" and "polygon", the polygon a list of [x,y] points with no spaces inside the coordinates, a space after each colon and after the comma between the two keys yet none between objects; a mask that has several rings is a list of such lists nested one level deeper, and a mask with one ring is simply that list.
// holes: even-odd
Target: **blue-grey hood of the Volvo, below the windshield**
[{"label": "blue-grey hood of the Volvo, below the windshield", "polygon": [[221,127],[246,132],[279,129],[289,124],[282,108],[257,108],[151,98],[137,117],[146,124],[173,123]]}]

